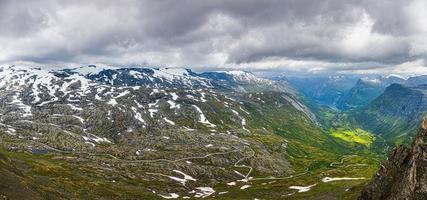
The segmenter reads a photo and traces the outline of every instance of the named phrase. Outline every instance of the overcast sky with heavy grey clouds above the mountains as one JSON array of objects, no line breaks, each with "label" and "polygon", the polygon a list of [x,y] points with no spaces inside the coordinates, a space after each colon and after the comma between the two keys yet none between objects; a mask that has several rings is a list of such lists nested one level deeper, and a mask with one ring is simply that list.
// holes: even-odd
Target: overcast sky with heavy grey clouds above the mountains
[{"label": "overcast sky with heavy grey clouds above the mountains", "polygon": [[0,64],[427,74],[425,0],[0,0]]}]

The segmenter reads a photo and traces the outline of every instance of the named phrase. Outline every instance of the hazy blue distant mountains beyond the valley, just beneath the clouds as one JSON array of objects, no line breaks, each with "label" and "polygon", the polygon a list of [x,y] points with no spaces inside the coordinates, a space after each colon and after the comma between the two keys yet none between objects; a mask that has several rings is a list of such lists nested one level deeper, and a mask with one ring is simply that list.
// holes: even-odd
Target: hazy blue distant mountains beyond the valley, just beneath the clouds
[{"label": "hazy blue distant mountains beyond the valley, just beneath the clouds", "polygon": [[[281,80],[276,78],[276,80]],[[366,106],[393,83],[418,86],[427,83],[427,76],[399,75],[335,75],[327,77],[289,77],[294,88],[318,105],[349,110]]]}]

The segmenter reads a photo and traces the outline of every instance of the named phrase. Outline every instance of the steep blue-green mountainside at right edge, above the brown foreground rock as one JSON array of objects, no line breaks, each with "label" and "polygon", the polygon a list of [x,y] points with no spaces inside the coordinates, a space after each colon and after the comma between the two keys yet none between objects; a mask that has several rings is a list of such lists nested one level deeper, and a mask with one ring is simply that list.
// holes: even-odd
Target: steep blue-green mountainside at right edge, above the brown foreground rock
[{"label": "steep blue-green mountainside at right edge, above the brown foreground rock", "polygon": [[427,112],[427,85],[409,87],[392,84],[366,107],[353,112],[356,123],[398,143],[412,140]]}]

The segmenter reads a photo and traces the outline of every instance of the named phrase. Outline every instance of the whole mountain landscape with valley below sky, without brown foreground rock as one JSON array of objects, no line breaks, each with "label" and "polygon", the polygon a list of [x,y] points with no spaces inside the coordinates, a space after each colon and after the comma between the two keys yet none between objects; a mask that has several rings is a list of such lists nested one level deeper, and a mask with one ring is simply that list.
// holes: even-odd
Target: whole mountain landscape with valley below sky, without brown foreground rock
[{"label": "whole mountain landscape with valley below sky, without brown foreground rock", "polygon": [[3,66],[0,194],[356,199],[424,114],[423,77],[369,80]]}]

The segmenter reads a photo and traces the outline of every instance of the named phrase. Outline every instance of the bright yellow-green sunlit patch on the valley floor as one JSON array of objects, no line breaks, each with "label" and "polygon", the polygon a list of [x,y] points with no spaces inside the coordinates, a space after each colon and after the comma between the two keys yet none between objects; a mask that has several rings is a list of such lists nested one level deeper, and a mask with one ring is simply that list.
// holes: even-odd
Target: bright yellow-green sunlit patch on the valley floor
[{"label": "bright yellow-green sunlit patch on the valley floor", "polygon": [[363,129],[356,128],[355,130],[348,130],[343,128],[330,129],[333,137],[339,138],[346,142],[358,143],[366,147],[371,147],[375,140],[375,136]]}]

